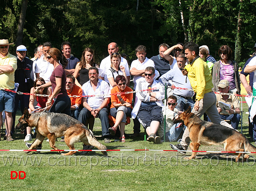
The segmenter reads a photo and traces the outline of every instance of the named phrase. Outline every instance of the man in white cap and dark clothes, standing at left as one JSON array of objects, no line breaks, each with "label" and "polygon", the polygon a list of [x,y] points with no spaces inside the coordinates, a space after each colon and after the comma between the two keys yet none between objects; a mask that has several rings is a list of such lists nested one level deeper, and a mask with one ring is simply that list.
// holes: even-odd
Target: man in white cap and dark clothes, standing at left
[{"label": "man in white cap and dark clothes, standing at left", "polygon": [[[19,83],[19,87],[17,92],[30,93],[30,89],[34,86],[34,81],[30,79],[31,71],[33,66],[33,61],[26,57],[27,48],[24,45],[19,45],[16,48],[17,54],[17,69],[14,73],[15,83]],[[29,108],[29,96],[24,94],[16,94],[15,95],[15,107],[14,112],[12,113],[12,118],[14,123],[12,124],[12,133],[14,133],[15,126],[15,118],[16,112],[18,110],[19,102],[20,102],[20,111],[23,113],[24,108]],[[25,137],[24,141],[31,141],[32,136],[28,134]]]}]

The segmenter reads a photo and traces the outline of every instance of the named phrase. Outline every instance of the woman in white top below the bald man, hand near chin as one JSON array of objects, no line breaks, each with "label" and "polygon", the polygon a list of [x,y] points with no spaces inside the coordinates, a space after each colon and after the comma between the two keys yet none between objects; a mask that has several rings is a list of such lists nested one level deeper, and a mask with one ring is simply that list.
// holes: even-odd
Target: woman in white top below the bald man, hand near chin
[{"label": "woman in white top below the bald man, hand near chin", "polygon": [[124,66],[120,66],[121,55],[114,52],[110,56],[111,68],[107,70],[107,78],[109,81],[110,89],[116,86],[115,79],[118,75],[123,75],[126,79],[126,85],[128,84],[128,79],[125,73]]}]

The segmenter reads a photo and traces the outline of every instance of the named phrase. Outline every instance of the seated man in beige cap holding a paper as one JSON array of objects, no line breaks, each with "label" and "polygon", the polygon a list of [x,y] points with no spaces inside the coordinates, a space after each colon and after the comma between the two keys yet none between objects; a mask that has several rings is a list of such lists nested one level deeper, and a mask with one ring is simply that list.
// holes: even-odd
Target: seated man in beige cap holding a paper
[{"label": "seated man in beige cap holding a paper", "polygon": [[[221,80],[219,85],[217,86],[219,91],[217,93],[231,93],[229,91],[229,82],[227,80]],[[234,129],[238,128],[239,122],[240,122],[240,106],[238,97],[232,95],[222,95],[222,94],[216,94],[216,107],[219,112],[220,118],[223,120],[231,120],[231,126]],[[219,107],[219,102],[224,102],[226,104],[230,104],[231,109],[223,111]],[[211,121],[208,118],[208,121]]]}]

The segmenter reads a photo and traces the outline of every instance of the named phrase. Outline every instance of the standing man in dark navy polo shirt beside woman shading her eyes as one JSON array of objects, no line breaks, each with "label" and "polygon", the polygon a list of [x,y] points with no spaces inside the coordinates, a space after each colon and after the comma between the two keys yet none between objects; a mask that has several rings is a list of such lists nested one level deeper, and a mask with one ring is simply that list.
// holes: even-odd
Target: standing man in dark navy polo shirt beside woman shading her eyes
[{"label": "standing man in dark navy polo shirt beside woman shading her eyes", "polygon": [[155,69],[159,72],[160,77],[170,70],[169,61],[164,58],[164,52],[168,48],[169,48],[168,44],[166,43],[160,44],[158,47],[159,55],[156,55],[150,58],[150,60],[154,61]]}]

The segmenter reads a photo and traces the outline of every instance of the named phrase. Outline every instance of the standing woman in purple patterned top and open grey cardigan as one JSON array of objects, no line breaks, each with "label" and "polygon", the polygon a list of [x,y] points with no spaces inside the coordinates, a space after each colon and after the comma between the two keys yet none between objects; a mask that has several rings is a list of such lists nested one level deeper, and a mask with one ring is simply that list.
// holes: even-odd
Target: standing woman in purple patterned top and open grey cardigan
[{"label": "standing woman in purple patterned top and open grey cardigan", "polygon": [[238,65],[231,60],[232,49],[228,45],[222,45],[218,50],[220,60],[217,61],[212,69],[213,91],[218,91],[217,86],[220,80],[228,80],[230,91],[240,94],[240,78],[238,73]]}]

